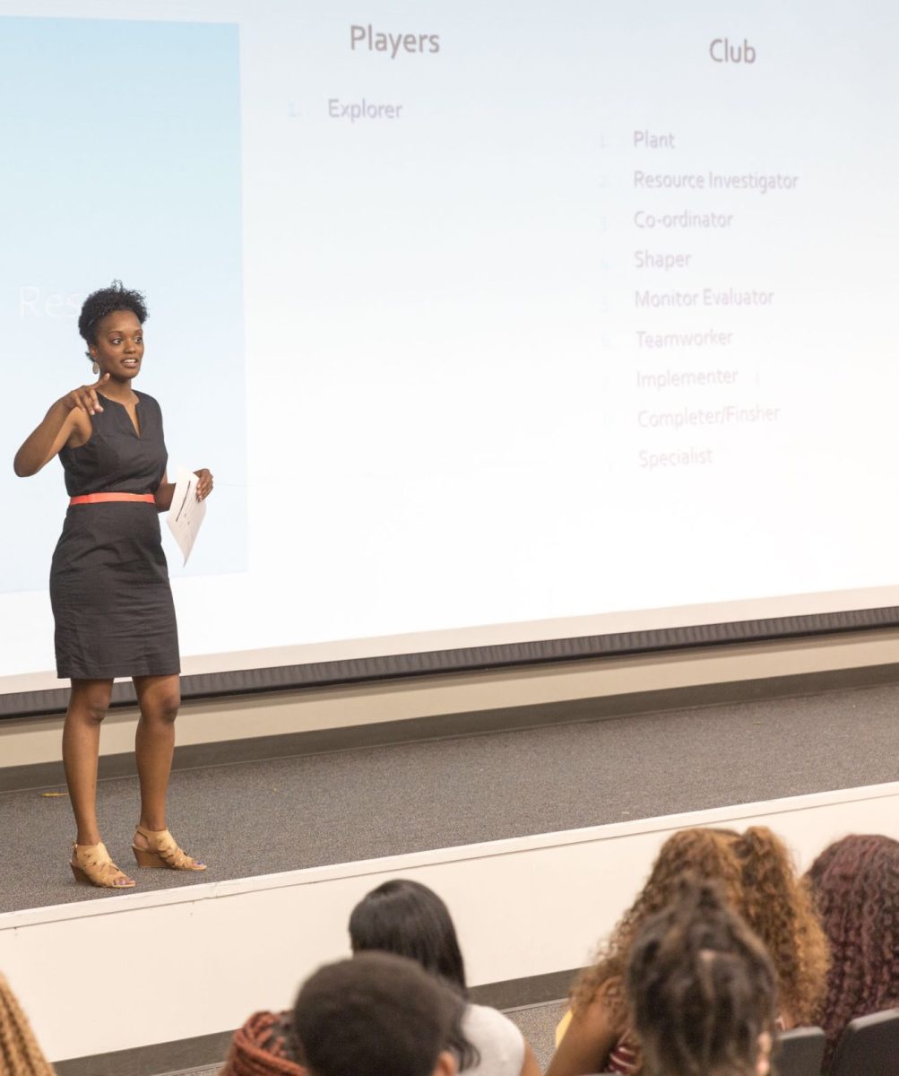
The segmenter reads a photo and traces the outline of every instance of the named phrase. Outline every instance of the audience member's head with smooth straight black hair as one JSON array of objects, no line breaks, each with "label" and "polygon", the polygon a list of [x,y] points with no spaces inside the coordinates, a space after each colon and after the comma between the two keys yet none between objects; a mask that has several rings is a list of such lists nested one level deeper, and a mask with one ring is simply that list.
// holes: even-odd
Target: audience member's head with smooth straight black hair
[{"label": "audience member's head with smooth straight black hair", "polygon": [[449,909],[427,886],[405,878],[385,881],[349,916],[353,952],[376,949],[408,957],[462,995],[466,973]]}]

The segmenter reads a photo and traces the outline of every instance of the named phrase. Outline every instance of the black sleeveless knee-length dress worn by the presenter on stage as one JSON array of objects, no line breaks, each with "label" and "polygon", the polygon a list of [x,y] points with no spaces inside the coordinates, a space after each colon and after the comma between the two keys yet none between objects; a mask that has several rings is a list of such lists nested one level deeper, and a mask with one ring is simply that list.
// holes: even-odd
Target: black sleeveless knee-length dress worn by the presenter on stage
[{"label": "black sleeveless knee-length dress worn by the presenter on stage", "polygon": [[[152,396],[135,395],[140,435],[125,406],[103,397],[103,410],[91,415],[90,440],[60,451],[69,496],[156,492],[168,462],[162,412]],[[180,671],[155,505],[70,505],[53,554],[49,596],[57,676],[104,680]]]}]

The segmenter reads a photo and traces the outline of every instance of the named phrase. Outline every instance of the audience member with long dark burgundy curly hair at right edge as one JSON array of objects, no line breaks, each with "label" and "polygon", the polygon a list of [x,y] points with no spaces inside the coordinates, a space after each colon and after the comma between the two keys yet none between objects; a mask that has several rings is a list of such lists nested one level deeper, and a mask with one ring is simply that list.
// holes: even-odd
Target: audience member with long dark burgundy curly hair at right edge
[{"label": "audience member with long dark burgundy curly hair at right edge", "polygon": [[899,1007],[899,841],[843,837],[825,848],[807,877],[830,943],[819,1021],[827,1066],[851,1020]]}]

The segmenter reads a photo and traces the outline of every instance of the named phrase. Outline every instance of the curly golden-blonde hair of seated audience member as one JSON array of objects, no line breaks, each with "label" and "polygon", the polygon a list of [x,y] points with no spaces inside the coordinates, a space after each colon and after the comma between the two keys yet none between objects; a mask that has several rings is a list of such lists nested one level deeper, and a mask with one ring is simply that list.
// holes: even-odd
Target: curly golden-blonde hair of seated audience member
[{"label": "curly golden-blonde hair of seated audience member", "polygon": [[571,1004],[583,1011],[603,997],[627,1021],[620,987],[633,939],[643,923],[669,907],[685,881],[717,881],[725,898],[767,947],[777,975],[782,1010],[796,1023],[813,1021],[824,997],[827,942],[803,881],[783,843],[766,826],[693,829],[672,834],[650,878],[593,966],[574,983]]}]

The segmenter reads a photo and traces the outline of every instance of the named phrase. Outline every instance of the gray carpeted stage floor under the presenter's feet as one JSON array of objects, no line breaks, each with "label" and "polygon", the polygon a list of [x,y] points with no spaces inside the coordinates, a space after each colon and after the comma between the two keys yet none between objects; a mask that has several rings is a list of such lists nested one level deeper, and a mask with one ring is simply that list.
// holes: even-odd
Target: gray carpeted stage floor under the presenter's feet
[{"label": "gray carpeted stage floor under the presenter's feet", "polygon": [[[899,686],[276,759],[175,773],[170,826],[205,874],[140,889],[569,830],[899,780]],[[130,869],[135,778],[101,782],[104,839]],[[65,796],[0,794],[0,911],[75,886]]]}]

